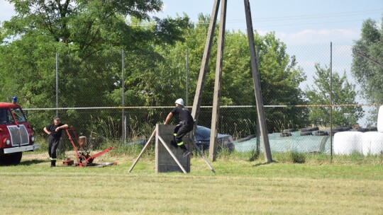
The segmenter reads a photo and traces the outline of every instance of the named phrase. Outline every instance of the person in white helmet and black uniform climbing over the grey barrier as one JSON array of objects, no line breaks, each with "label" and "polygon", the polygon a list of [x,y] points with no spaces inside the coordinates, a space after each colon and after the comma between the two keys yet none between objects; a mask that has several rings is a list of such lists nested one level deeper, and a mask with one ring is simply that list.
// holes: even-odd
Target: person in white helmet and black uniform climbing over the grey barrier
[{"label": "person in white helmet and black uniform climbing over the grey barrier", "polygon": [[182,137],[194,129],[194,120],[191,116],[190,110],[184,108],[184,100],[182,100],[182,98],[177,99],[175,101],[175,105],[175,108],[173,108],[169,115],[167,115],[165,124],[167,124],[174,115],[178,115],[179,124],[177,124],[174,129],[174,146],[179,146],[184,151],[182,157],[185,157],[190,154],[190,151],[187,150],[184,141],[182,141]]}]

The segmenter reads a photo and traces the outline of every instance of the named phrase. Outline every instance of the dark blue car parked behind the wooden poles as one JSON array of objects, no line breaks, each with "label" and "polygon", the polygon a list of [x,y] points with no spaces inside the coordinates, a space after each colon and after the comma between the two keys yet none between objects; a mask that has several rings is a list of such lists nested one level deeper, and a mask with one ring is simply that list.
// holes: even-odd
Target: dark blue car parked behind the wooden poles
[{"label": "dark blue car parked behind the wooden poles", "polygon": [[[200,149],[209,149],[210,146],[210,132],[211,129],[197,125],[196,135],[194,141]],[[229,134],[217,134],[218,148],[217,149],[228,149],[228,151],[234,150],[233,138]]]}]

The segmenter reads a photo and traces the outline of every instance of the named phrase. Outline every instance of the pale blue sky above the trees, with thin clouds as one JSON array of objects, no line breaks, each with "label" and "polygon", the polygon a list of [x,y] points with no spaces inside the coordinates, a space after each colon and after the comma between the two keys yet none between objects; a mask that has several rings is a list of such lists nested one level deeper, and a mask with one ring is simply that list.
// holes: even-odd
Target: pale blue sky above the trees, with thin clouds
[{"label": "pale blue sky above the trees, with thin clouds", "polygon": [[[155,16],[187,13],[196,22],[199,13],[211,15],[213,0],[164,0]],[[253,28],[261,34],[274,31],[287,45],[329,42],[351,43],[360,37],[362,21],[382,22],[383,0],[250,0]],[[0,0],[0,21],[15,13],[8,1]],[[242,0],[229,0],[226,29],[245,31]]]}]

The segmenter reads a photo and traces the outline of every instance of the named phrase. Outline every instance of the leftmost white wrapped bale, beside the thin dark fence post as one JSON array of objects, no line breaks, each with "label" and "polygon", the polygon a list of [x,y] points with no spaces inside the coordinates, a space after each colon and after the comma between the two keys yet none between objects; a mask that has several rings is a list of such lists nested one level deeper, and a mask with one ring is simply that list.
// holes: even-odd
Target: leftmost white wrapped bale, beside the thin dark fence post
[{"label": "leftmost white wrapped bale, beside the thin dark fence post", "polygon": [[349,155],[362,153],[362,132],[337,132],[334,134],[334,153]]}]

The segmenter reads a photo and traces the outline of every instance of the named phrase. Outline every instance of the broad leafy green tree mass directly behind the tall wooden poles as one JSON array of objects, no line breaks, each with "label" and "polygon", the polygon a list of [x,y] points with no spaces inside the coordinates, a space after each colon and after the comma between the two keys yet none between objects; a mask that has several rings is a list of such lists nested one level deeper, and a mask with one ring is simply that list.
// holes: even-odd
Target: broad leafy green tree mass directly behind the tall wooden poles
[{"label": "broad leafy green tree mass directly behind the tall wooden poles", "polygon": [[[184,98],[186,91],[185,77],[185,52],[189,49],[189,100],[194,99],[196,83],[199,77],[201,59],[204,53],[206,33],[209,28],[209,16],[199,15],[199,24],[193,25],[185,33],[185,41],[177,42],[169,50],[163,50],[162,56],[166,59],[164,69],[167,73],[160,71],[157,74],[165,74],[164,80],[170,89],[162,89],[165,98],[164,105],[170,105],[176,98]],[[213,38],[211,59],[207,69],[204,93],[201,105],[212,105],[213,88],[216,69],[216,50],[218,41],[218,27]],[[303,91],[299,89],[299,83],[304,81],[302,69],[297,65],[294,56],[286,53],[286,45],[277,40],[274,33],[265,36],[255,35],[255,42],[260,47],[260,79],[262,83],[262,96],[266,105],[296,105],[304,103]],[[255,92],[253,87],[252,73],[250,70],[250,52],[248,47],[247,34],[238,32],[226,32],[225,48],[223,52],[223,78],[221,84],[220,105],[255,105]],[[160,67],[157,67],[157,69]],[[159,77],[157,77],[159,79]],[[271,79],[271,80],[269,80]],[[152,81],[152,86],[159,83]],[[162,95],[163,96],[163,95]],[[170,99],[169,99],[170,98]],[[190,103],[191,104],[191,103]],[[267,127],[270,132],[277,130],[276,124],[279,119],[284,119],[282,127],[302,127],[306,124],[307,117],[304,108],[270,108],[267,111]],[[204,111],[204,110],[202,110]],[[238,119],[250,119],[255,122],[256,113],[251,112],[230,112],[221,117],[225,119],[226,132],[233,129],[233,124],[238,124]],[[211,112],[200,112],[199,124],[209,126]],[[279,129],[278,129],[279,132]]]}]

